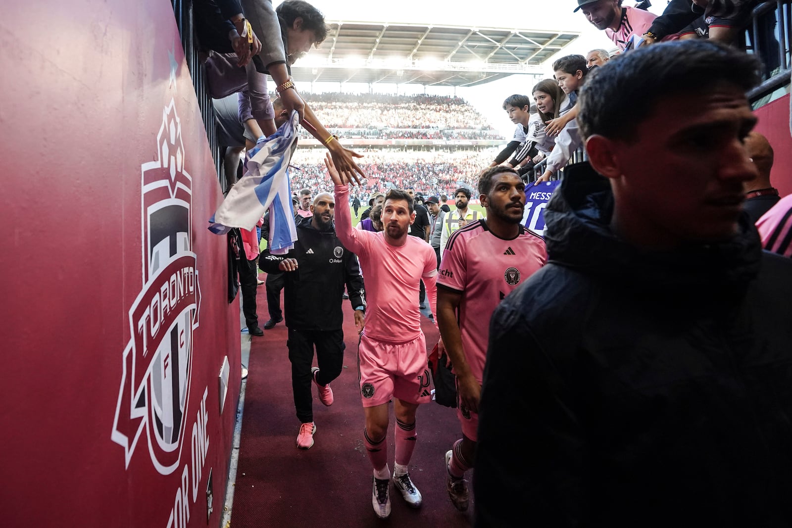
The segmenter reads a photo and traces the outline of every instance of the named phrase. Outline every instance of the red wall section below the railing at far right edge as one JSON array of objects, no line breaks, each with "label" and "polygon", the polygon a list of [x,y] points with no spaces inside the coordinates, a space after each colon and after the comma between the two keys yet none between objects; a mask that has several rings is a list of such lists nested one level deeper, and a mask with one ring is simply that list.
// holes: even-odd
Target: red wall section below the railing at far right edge
[{"label": "red wall section below the railing at far right edge", "polygon": [[771,183],[781,196],[792,194],[792,135],[790,135],[790,96],[757,108],[759,123],[756,131],[767,137],[773,146],[775,162],[770,173]]}]

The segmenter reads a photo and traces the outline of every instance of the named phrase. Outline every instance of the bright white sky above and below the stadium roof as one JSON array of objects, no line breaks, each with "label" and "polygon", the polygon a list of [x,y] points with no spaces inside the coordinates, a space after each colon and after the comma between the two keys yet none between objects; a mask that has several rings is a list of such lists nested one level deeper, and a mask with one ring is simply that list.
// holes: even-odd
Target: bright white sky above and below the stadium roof
[{"label": "bright white sky above and below the stadium roof", "polygon": [[[605,32],[598,31],[586,21],[580,11],[573,13],[577,0],[398,0],[398,2],[372,2],[371,0],[309,0],[309,2],[325,13],[326,21],[376,21],[376,22],[409,22],[413,24],[463,25],[470,27],[493,27],[514,29],[547,29],[558,31],[579,32],[579,36],[569,46],[547,61],[544,66],[546,74],[550,71],[554,59],[562,55],[579,53],[585,55],[589,50],[603,47],[615,49]],[[625,6],[633,6],[635,0],[624,0]],[[665,0],[654,0],[649,10],[660,14],[665,8]],[[280,0],[274,0],[277,6]],[[483,9],[482,9],[483,8]],[[501,109],[503,100],[512,93],[524,93],[530,96],[533,78],[512,75],[508,78],[489,82],[485,85],[457,89],[457,95],[464,97],[489,120],[489,123],[502,131],[507,139],[511,139],[514,125],[508,121]],[[367,91],[366,85],[350,86],[358,92]],[[314,85],[320,91],[322,86]],[[337,84],[326,89],[337,91]],[[395,93],[395,85],[383,85],[387,93]],[[306,89],[303,88],[303,91]],[[379,90],[378,90],[379,91]],[[401,85],[400,93],[417,91],[421,93],[421,85]],[[449,87],[430,87],[427,93],[444,95],[453,94]],[[319,116],[321,119],[321,116]]]}]

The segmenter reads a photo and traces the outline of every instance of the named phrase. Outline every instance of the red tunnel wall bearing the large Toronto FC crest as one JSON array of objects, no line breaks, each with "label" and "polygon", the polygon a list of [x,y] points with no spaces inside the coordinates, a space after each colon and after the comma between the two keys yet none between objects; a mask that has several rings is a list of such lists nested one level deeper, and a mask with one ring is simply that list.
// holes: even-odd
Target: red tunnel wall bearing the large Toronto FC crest
[{"label": "red tunnel wall bearing the large Toronto FC crest", "polygon": [[239,305],[170,3],[2,11],[0,526],[219,526]]}]

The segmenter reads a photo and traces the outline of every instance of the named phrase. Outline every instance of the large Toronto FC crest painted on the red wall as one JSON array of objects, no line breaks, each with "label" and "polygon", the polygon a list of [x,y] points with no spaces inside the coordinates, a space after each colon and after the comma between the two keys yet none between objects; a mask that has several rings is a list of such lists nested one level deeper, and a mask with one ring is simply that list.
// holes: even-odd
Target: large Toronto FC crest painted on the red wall
[{"label": "large Toronto FC crest painted on the red wall", "polygon": [[143,288],[129,309],[131,340],[124,349],[111,439],[129,466],[140,435],[151,462],[173,473],[185,439],[192,372],[192,334],[200,288],[192,247],[192,178],[185,171],[181,123],[173,99],[162,111],[158,160],[143,163]]}]

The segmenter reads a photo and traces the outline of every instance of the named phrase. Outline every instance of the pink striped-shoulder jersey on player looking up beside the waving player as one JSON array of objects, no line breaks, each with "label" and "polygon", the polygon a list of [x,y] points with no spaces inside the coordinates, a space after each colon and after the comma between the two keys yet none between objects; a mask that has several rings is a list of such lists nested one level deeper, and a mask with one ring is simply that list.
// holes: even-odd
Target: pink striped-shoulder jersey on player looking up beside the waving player
[{"label": "pink striped-shoulder jersey on player looking up beside the waving player", "polygon": [[463,293],[459,329],[470,373],[481,383],[489,318],[506,295],[547,261],[542,237],[520,226],[512,240],[496,237],[481,220],[448,239],[437,284]]}]

